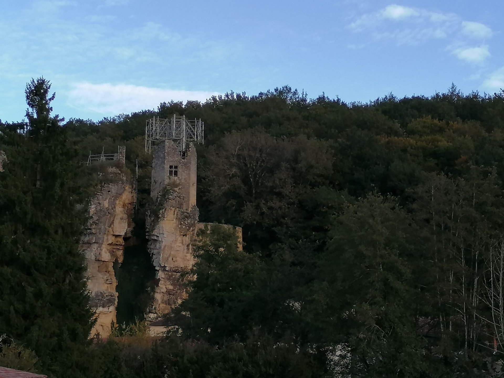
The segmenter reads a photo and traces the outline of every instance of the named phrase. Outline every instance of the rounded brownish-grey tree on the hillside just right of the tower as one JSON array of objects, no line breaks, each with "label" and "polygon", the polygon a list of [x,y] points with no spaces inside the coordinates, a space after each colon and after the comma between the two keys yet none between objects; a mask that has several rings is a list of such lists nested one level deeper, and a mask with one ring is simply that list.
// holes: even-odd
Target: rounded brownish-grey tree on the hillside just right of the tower
[{"label": "rounded brownish-grey tree on the hillside just right of the tower", "polygon": [[301,226],[313,210],[304,203],[329,185],[333,158],[327,143],[252,129],[225,135],[204,159],[205,210],[214,220],[246,227],[250,248],[312,236],[312,229]]}]

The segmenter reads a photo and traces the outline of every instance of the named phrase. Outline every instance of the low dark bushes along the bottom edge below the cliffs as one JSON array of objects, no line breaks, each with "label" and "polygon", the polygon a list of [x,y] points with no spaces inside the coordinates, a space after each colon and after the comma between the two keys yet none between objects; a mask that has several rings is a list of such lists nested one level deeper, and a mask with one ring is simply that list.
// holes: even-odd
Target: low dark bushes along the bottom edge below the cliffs
[{"label": "low dark bushes along the bottom edge below the cliffs", "polygon": [[219,348],[203,341],[170,337],[152,346],[116,341],[98,342],[93,352],[93,376],[121,378],[221,378],[330,376],[325,361],[288,340],[277,342],[253,331],[243,342],[229,341]]}]

